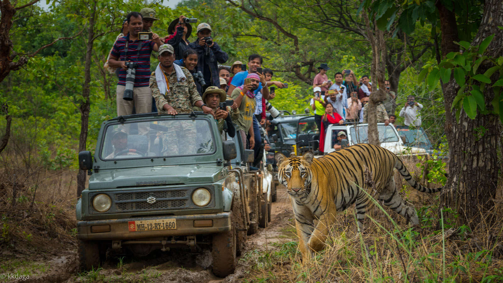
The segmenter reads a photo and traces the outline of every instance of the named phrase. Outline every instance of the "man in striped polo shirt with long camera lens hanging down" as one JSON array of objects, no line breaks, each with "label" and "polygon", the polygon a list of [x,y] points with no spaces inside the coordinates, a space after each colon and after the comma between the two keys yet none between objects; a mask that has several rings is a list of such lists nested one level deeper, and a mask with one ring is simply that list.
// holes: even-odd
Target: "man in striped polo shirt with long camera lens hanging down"
[{"label": "man in striped polo shirt with long camera lens hanging down", "polygon": [[[152,34],[152,40],[139,40],[138,32],[143,30],[142,16],[138,12],[127,15],[129,34],[119,38],[110,53],[109,65],[119,68],[119,83],[117,83],[117,116],[129,115],[133,112],[148,113],[152,107],[152,94],[148,83],[150,80],[150,54],[157,51],[161,45],[159,36]],[[133,101],[124,100],[126,86],[126,61],[137,62],[134,80]]]}]

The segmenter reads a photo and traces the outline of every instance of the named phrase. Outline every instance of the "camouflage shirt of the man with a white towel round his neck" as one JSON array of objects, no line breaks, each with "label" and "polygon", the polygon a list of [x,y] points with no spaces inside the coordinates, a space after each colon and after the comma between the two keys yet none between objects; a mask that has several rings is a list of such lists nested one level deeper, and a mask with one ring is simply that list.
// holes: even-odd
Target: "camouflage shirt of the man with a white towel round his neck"
[{"label": "camouflage shirt of the man with a white towel round his neck", "polygon": [[192,112],[192,107],[195,106],[196,102],[203,100],[197,92],[194,78],[190,74],[189,70],[184,67],[182,67],[182,70],[187,78],[187,80],[183,82],[179,82],[177,80],[175,70],[173,70],[171,75],[164,72],[164,70],[162,71],[167,78],[169,88],[169,91],[166,91],[165,94],[160,93],[155,79],[155,72],[152,72],[149,87],[152,91],[152,96],[155,99],[155,106],[157,107],[157,113],[159,115],[168,114],[167,111],[162,108],[166,103],[177,110],[178,113],[190,113]]}]

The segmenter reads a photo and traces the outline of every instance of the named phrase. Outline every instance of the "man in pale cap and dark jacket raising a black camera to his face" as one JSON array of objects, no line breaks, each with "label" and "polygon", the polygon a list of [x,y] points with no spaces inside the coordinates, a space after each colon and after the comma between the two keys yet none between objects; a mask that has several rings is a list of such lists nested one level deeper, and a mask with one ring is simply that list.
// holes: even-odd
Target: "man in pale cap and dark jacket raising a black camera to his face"
[{"label": "man in pale cap and dark jacket raising a black camera to his face", "polygon": [[220,49],[220,46],[213,39],[211,39],[211,44],[207,45],[208,39],[211,39],[211,26],[207,23],[201,23],[197,26],[197,39],[190,44],[190,47],[197,52],[197,70],[203,73],[206,86],[220,87],[218,63],[227,62],[229,56]]}]

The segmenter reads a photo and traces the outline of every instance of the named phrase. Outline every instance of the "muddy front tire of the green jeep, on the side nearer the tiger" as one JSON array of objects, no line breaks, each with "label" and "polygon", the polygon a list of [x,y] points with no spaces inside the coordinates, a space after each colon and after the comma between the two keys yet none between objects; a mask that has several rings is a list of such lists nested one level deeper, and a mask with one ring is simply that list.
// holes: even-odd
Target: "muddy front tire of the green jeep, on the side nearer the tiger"
[{"label": "muddy front tire of the green jeep, on the side nearer the tiger", "polygon": [[236,226],[230,231],[213,235],[211,255],[213,256],[213,274],[224,278],[236,268]]}]

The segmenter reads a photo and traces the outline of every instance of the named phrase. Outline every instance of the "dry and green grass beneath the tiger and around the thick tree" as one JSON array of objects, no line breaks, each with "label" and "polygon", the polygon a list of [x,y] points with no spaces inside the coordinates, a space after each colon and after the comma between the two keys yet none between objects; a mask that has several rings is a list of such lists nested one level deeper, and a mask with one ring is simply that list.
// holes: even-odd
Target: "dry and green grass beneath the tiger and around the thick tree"
[{"label": "dry and green grass beneath the tiger and around the thick tree", "polygon": [[[406,166],[416,177],[421,174],[414,161]],[[438,194],[423,194],[405,186],[398,173],[395,180],[397,188],[404,188],[400,194],[415,206],[420,227],[409,227],[403,218],[376,202],[365,232],[359,234],[351,207],[339,213],[325,250],[316,257],[303,260],[296,242],[284,244],[278,251],[256,257],[246,281],[503,281],[500,223],[480,223],[472,233],[467,226],[456,226],[454,219],[443,218],[446,213],[456,214],[439,209]],[[499,205],[493,213],[491,217],[503,217]]]}]

